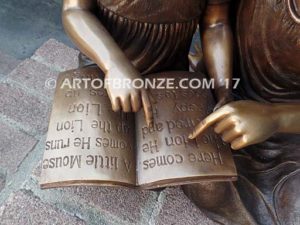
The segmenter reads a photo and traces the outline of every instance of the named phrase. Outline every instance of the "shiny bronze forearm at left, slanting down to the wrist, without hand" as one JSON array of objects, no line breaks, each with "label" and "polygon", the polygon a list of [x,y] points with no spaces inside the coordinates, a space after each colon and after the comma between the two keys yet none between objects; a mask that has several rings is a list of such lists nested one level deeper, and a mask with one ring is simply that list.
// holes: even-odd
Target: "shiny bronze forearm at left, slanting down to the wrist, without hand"
[{"label": "shiny bronze forearm at left, slanting down to the wrist, without hand", "polygon": [[104,72],[116,65],[119,67],[131,65],[111,35],[90,10],[76,7],[64,8],[63,25],[66,33],[80,51],[91,58]]}]

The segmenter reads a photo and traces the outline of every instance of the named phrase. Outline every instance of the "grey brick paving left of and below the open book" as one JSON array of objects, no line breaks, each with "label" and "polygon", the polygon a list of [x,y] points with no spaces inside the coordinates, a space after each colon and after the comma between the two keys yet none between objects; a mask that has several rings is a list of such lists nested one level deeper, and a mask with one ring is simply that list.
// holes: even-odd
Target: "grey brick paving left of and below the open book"
[{"label": "grey brick paving left of and below the open book", "polygon": [[216,225],[179,188],[41,190],[39,165],[53,94],[45,82],[76,68],[78,51],[51,39],[31,59],[11,60],[15,69],[0,61],[0,74],[1,67],[9,73],[0,75],[0,225]]}]

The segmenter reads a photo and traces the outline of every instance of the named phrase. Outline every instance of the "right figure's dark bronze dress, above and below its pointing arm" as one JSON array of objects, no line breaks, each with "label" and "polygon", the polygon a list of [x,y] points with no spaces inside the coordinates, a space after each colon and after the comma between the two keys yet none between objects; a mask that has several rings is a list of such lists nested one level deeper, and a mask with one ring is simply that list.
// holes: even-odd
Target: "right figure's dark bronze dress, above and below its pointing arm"
[{"label": "right figure's dark bronze dress, above and below its pointing arm", "polygon": [[[300,1],[241,0],[237,19],[238,95],[300,103]],[[300,135],[274,135],[236,162],[238,191],[258,224],[300,224]]]}]

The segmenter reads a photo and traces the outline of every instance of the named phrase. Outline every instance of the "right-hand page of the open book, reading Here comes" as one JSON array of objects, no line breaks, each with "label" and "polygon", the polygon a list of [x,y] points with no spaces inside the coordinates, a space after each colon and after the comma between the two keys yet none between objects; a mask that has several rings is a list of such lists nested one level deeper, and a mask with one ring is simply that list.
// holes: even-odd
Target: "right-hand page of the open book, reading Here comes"
[{"label": "right-hand page of the open book, reading Here comes", "polygon": [[174,89],[149,90],[155,101],[152,127],[146,126],[142,112],[136,116],[138,184],[156,188],[235,179],[231,150],[212,129],[196,140],[188,139],[193,128],[212,112],[215,102],[209,87],[185,89],[180,82],[205,82],[204,76],[168,72],[148,78],[166,78],[169,83],[174,80]]}]

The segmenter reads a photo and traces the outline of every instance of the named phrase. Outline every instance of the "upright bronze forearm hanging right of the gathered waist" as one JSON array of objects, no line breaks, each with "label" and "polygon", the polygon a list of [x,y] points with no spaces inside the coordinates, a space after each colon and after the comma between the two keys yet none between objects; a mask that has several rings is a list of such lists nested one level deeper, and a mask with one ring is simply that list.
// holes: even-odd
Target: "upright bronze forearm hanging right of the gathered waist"
[{"label": "upright bronze forearm hanging right of the gathered waist", "polygon": [[228,5],[208,6],[203,19],[202,45],[209,76],[215,81],[217,97],[220,89],[232,86],[233,37],[228,21]]}]

